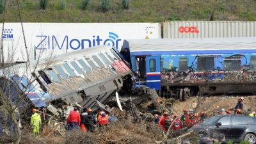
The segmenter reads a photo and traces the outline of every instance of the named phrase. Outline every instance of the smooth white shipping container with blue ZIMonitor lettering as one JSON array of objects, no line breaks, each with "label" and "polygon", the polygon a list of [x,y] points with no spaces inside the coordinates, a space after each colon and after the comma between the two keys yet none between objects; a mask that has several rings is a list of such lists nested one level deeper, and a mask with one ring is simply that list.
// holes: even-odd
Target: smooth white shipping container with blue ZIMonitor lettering
[{"label": "smooth white shipping container with blue ZIMonitor lettering", "polygon": [[[112,45],[120,50],[124,39],[161,38],[159,23],[23,23],[23,25],[29,60],[103,44]],[[0,24],[1,28],[2,26],[3,24]],[[28,59],[20,23],[4,23],[3,50],[4,61]],[[14,56],[10,56],[13,53]]]}]

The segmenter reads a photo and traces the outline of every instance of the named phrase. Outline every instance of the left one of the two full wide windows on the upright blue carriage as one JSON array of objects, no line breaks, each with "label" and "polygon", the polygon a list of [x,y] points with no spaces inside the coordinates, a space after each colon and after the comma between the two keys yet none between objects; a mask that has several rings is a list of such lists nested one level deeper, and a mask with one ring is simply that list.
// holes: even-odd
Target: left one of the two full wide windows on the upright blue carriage
[{"label": "left one of the two full wide windows on the upright blue carriage", "polygon": [[214,70],[214,57],[213,56],[198,56],[197,57],[197,70]]}]

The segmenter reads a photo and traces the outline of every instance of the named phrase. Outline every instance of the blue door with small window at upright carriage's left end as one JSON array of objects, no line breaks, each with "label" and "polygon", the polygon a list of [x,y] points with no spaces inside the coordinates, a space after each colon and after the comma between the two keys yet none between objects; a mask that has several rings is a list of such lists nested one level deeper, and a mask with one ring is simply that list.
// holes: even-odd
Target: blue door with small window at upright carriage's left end
[{"label": "blue door with small window at upright carriage's left end", "polygon": [[147,86],[161,90],[160,56],[146,57],[146,72]]}]

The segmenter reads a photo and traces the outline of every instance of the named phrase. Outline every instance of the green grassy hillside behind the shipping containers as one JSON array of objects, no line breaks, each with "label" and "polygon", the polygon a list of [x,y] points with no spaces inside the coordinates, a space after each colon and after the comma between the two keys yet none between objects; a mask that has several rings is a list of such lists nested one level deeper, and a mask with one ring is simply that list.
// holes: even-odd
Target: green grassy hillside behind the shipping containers
[{"label": "green grassy hillside behind the shipping containers", "polygon": [[[61,0],[50,0],[46,10],[39,1],[20,0],[23,22],[161,22],[163,20],[256,20],[255,0],[132,0],[129,10],[122,1],[110,0],[111,10],[102,13],[101,0],[91,0],[82,10],[81,0],[67,0],[61,10]],[[0,14],[3,22],[3,14]],[[19,22],[15,1],[6,1],[5,22]]]}]

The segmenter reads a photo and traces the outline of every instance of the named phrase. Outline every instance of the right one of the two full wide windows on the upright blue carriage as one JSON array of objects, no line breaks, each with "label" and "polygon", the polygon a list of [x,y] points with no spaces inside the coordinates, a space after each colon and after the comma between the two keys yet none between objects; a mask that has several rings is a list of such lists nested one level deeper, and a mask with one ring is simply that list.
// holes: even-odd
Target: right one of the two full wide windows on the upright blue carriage
[{"label": "right one of the two full wide windows on the upright blue carriage", "polygon": [[240,70],[240,69],[241,69],[240,56],[224,58],[223,70]]}]

